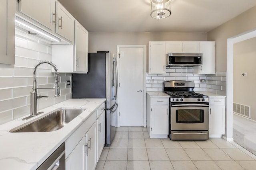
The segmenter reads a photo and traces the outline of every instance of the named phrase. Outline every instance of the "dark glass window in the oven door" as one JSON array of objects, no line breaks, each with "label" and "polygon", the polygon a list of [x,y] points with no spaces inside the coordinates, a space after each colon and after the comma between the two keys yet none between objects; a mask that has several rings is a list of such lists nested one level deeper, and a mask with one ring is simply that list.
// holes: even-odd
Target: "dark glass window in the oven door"
[{"label": "dark glass window in the oven door", "polygon": [[176,110],[176,123],[203,123],[204,110],[180,109]]}]

